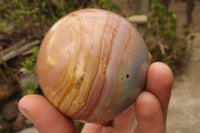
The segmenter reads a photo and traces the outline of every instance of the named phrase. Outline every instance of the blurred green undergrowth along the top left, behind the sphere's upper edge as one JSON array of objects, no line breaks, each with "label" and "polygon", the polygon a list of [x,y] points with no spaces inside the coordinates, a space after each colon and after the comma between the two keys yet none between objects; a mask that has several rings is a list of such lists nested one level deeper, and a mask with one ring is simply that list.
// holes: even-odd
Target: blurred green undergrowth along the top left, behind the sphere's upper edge
[{"label": "blurred green undergrowth along the top left, behind the sphere's upper edge", "polygon": [[82,8],[120,11],[112,0],[8,0],[0,1],[0,35],[12,41],[21,38],[42,39],[47,29],[64,15]]}]

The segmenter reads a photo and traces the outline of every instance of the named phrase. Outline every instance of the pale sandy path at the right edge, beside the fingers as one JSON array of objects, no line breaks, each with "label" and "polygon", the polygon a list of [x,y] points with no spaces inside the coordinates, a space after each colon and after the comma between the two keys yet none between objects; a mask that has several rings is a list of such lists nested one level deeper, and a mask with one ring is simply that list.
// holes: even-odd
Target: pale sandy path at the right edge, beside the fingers
[{"label": "pale sandy path at the right edge, beside the fingers", "polygon": [[184,72],[175,77],[169,105],[167,133],[200,132],[200,32]]}]

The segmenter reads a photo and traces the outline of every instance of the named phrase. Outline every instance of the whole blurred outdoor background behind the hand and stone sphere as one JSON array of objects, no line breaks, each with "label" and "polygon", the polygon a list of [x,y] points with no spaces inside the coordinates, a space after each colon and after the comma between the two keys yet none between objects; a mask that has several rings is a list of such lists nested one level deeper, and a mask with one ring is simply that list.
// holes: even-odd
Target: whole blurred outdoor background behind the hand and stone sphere
[{"label": "whole blurred outdoor background behind the hand and stone sphere", "polygon": [[[42,94],[35,66],[48,29],[83,8],[110,10],[133,23],[153,62],[167,63],[175,75],[167,133],[199,133],[200,0],[0,0],[0,133],[37,133],[18,101]],[[75,124],[80,131],[83,124]]]}]

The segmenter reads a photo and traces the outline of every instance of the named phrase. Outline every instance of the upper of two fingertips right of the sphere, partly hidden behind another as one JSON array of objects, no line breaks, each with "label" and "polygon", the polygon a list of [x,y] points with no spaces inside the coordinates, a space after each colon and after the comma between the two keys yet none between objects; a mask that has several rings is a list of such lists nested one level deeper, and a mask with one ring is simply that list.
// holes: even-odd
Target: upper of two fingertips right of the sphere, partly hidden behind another
[{"label": "upper of two fingertips right of the sphere, partly hidden behind another", "polygon": [[167,65],[159,62],[150,65],[147,74],[146,90],[158,98],[165,120],[167,116],[172,85],[173,74]]}]

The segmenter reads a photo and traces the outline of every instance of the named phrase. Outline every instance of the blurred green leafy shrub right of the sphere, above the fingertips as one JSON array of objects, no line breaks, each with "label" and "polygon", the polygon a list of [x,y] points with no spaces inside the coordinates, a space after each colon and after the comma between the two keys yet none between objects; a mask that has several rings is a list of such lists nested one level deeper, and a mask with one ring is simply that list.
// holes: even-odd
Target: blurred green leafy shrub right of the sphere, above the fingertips
[{"label": "blurred green leafy shrub right of the sphere, above the fingertips", "polygon": [[[167,63],[172,69],[180,63],[187,48],[186,41],[180,41],[176,29],[176,15],[164,6],[155,4],[149,16],[147,43],[153,59]],[[185,36],[189,36],[188,31],[184,33]],[[191,39],[194,37],[191,36]]]}]

